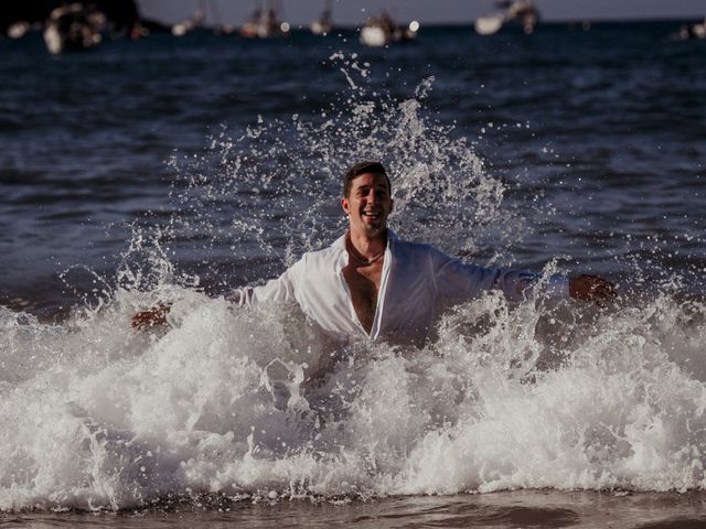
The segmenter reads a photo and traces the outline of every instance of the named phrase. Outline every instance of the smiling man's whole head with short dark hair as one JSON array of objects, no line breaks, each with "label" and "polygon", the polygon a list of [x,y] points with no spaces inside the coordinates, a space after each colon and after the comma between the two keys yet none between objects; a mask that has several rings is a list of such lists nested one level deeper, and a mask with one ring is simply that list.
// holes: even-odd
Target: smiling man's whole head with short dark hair
[{"label": "smiling man's whole head with short dark hair", "polygon": [[346,171],[341,206],[349,215],[352,235],[377,237],[385,233],[393,199],[382,163],[360,162]]}]

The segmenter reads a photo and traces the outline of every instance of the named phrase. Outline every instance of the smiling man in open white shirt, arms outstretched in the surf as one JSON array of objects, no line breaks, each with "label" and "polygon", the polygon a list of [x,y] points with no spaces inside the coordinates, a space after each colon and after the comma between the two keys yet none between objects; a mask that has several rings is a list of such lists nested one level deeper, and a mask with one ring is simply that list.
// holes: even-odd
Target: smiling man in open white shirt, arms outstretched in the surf
[{"label": "smiling man in open white shirt, arms outstretched in the surf", "polygon": [[[349,230],[329,248],[304,253],[278,279],[226,296],[239,305],[296,301],[329,334],[392,342],[426,336],[445,301],[461,302],[500,289],[526,299],[541,277],[466,264],[438,249],[400,240],[389,228],[391,183],[378,162],[354,164],[344,176],[341,206]],[[595,276],[553,277],[550,298],[603,302],[614,288]],[[164,322],[168,307],[137,314],[136,327]],[[402,338],[402,339],[400,339]]]}]

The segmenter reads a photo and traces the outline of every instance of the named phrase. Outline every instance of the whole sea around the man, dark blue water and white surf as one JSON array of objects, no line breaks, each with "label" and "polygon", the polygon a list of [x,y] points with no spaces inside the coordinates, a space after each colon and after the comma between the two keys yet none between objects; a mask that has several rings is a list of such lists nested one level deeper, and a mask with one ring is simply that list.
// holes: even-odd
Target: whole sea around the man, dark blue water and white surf
[{"label": "whole sea around the man, dark blue water and white surf", "polygon": [[[706,527],[682,23],[0,40],[0,525]],[[344,231],[361,159],[403,238],[619,299],[489,293],[424,345],[344,350],[296,306],[229,306]]]}]

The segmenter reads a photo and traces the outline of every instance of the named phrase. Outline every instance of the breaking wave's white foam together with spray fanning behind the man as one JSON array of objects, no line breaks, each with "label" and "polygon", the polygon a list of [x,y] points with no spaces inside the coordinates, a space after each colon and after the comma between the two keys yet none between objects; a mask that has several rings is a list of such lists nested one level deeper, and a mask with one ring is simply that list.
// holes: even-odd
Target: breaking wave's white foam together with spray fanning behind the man
[{"label": "breaking wave's white foam together with spray fanning behind the man", "polygon": [[[0,307],[0,509],[703,489],[706,306],[676,288],[607,310],[489,293],[421,348],[341,348],[296,307],[234,309],[173,264],[225,245],[281,270],[343,229],[332,197],[362,158],[389,165],[403,237],[461,255],[512,244],[522,217],[502,183],[424,116],[431,79],[393,101],[355,57],[332,61],[351,91],[319,121],[224,130],[173,161],[178,214],[136,228],[99,306],[57,324]],[[170,325],[132,332],[158,299],[174,302]]]}]

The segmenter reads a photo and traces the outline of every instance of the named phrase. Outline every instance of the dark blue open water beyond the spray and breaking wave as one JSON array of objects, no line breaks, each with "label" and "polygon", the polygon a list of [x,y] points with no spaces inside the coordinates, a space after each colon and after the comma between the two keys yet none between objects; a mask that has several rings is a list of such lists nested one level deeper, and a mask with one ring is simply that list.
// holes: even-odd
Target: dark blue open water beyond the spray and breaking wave
[{"label": "dark blue open water beyond the spray and breaking wave", "polygon": [[[63,56],[39,34],[4,40],[0,301],[52,314],[73,302],[58,279],[69,266],[110,276],[130,238],[126,224],[179,214],[169,197],[179,170],[168,161],[201,155],[222,127],[237,138],[258,116],[320,121],[322,109],[344,109],[350,90],[334,52],[370,64],[370,99],[410,98],[435,77],[421,111],[469,139],[486,172],[510,183],[507,201],[532,194],[538,206],[503,250],[512,262],[539,267],[559,255],[569,269],[618,278],[634,274],[632,262],[650,277],[700,272],[706,48],[671,40],[677,29],[557,24],[483,39],[431,28],[385,50],[364,48],[350,31],[269,42],[196,33]],[[268,141],[296,139],[282,131]],[[194,256],[178,260],[189,268]],[[229,279],[257,278],[245,276]],[[86,281],[69,282],[83,291]]]}]

